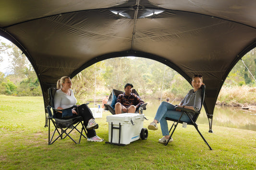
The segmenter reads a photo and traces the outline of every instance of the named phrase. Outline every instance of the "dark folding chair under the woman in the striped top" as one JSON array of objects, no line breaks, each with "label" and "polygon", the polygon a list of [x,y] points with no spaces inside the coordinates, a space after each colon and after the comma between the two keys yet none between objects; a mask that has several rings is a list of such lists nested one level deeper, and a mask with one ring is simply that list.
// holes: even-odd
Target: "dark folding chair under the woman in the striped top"
[{"label": "dark folding chair under the woman in the striped top", "polygon": [[[209,144],[207,143],[206,139],[204,138],[204,136],[200,133],[200,131],[198,130],[198,127],[197,127],[197,124],[195,123],[199,114],[200,114],[200,111],[202,109],[202,105],[203,105],[203,102],[204,102],[204,99],[205,99],[205,85],[202,85],[202,102],[201,102],[201,108],[198,112],[195,112],[194,110],[191,110],[191,109],[185,109],[185,108],[182,108],[182,107],[176,107],[177,109],[181,110],[181,112],[177,112],[178,114],[174,117],[176,118],[169,118],[169,117],[166,117],[165,119],[166,120],[169,120],[169,121],[173,121],[173,124],[171,126],[171,129],[172,127],[174,126],[174,129],[172,130],[171,132],[171,129],[169,131],[169,133],[171,132],[171,135],[167,141],[167,143],[165,144],[165,146],[169,143],[170,139],[171,139],[171,136],[172,134],[174,133],[177,125],[180,123],[180,124],[187,124],[187,125],[194,125],[195,129],[197,130],[197,132],[199,133],[199,135],[202,137],[202,139],[205,141],[205,143],[207,144],[207,146],[209,147],[210,150],[212,150],[212,148],[209,146]],[[168,112],[168,111],[167,111]],[[176,122],[176,124],[175,124]]]}]

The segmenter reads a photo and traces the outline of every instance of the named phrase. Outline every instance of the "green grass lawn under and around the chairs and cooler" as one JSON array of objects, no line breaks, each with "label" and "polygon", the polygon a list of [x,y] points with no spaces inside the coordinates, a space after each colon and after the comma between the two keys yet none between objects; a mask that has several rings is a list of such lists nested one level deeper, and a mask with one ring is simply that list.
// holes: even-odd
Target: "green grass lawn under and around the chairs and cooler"
[{"label": "green grass lawn under and around the chairs and cooler", "polygon": [[[76,145],[68,138],[48,145],[48,128],[42,97],[0,95],[0,169],[4,170],[253,170],[256,167],[256,132],[199,125],[199,130],[213,148],[209,150],[195,128],[179,125],[174,141],[158,143],[161,130],[149,131],[147,140],[136,140],[126,146],[105,142]],[[146,114],[146,111],[145,111]],[[106,116],[96,121],[97,135],[108,141]],[[150,120],[144,121],[146,127]],[[52,127],[52,125],[51,125]],[[73,133],[76,139],[78,134]]]}]

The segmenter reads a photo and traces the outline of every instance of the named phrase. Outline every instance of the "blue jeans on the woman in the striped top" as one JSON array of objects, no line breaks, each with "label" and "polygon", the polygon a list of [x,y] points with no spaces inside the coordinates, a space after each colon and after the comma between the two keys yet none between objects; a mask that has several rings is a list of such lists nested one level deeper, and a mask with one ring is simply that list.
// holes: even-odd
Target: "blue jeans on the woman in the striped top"
[{"label": "blue jeans on the woman in the striped top", "polygon": [[[161,130],[162,130],[163,136],[170,135],[167,120],[165,118],[170,117],[170,118],[176,119],[176,118],[179,118],[181,115],[181,112],[176,111],[175,107],[176,107],[175,105],[173,105],[169,102],[162,102],[158,107],[158,111],[156,113],[155,119],[161,125]],[[184,116],[182,116],[182,117],[184,117]],[[189,118],[188,118],[188,120],[189,120]]]}]

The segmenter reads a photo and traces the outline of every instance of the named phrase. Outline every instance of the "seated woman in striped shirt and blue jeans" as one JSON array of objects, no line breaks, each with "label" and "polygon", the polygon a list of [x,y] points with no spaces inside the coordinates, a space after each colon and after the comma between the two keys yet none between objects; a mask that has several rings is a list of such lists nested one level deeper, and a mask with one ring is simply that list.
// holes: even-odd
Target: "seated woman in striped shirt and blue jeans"
[{"label": "seated woman in striped shirt and blue jeans", "polygon": [[[201,106],[201,102],[202,102],[201,86],[204,85],[203,77],[201,75],[194,75],[191,84],[193,86],[193,89],[191,89],[187,93],[187,95],[182,100],[182,102],[180,102],[178,107],[183,107],[183,108],[191,109],[191,110],[198,112],[198,111],[200,111],[200,109],[202,107]],[[158,107],[158,111],[156,113],[156,116],[155,116],[153,122],[151,122],[148,125],[148,129],[157,130],[158,129],[157,123],[158,122],[160,123],[162,135],[163,135],[163,137],[158,140],[158,142],[160,142],[160,143],[166,143],[170,137],[169,130],[168,130],[168,124],[167,124],[167,121],[165,118],[166,117],[172,118],[175,113],[180,112],[180,110],[176,110],[175,107],[177,107],[177,106],[175,106],[169,102],[162,102]],[[173,141],[173,139],[171,138],[169,142],[172,142],[172,141]]]}]

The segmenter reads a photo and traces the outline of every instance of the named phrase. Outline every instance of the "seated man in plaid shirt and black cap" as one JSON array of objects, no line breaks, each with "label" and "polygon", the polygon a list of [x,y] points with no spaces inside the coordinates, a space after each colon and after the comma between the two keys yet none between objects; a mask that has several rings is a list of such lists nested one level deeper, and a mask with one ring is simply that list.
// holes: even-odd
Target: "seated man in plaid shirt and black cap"
[{"label": "seated man in plaid shirt and black cap", "polygon": [[117,103],[115,104],[115,113],[135,113],[136,109],[140,107],[144,102],[139,96],[132,93],[134,86],[131,83],[126,83],[124,86],[124,93],[119,94],[117,97]]}]

